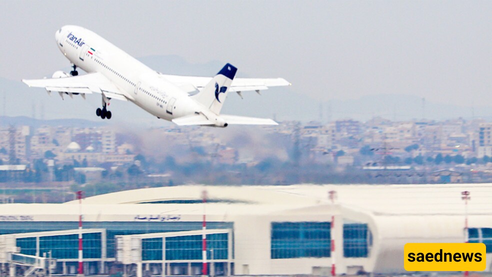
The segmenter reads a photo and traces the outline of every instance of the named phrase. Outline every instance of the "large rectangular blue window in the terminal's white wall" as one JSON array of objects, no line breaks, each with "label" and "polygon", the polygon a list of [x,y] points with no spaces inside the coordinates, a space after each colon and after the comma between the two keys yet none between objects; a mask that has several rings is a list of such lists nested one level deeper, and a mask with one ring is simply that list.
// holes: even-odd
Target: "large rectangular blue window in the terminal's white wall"
[{"label": "large rectangular blue window in the terminal's white wall", "polygon": [[329,257],[330,239],[330,222],[272,222],[270,257]]}]

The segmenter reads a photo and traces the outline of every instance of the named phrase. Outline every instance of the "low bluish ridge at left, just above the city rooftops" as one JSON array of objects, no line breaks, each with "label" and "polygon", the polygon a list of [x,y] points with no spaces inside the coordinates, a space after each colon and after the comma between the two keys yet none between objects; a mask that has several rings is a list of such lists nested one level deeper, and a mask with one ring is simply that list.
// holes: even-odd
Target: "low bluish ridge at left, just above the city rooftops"
[{"label": "low bluish ridge at left, just above the city rooftops", "polygon": [[103,121],[90,121],[85,119],[35,119],[27,116],[0,116],[0,127],[9,125],[19,126],[27,125],[31,127],[39,126],[64,126],[64,127],[97,127],[106,125],[107,122]]}]

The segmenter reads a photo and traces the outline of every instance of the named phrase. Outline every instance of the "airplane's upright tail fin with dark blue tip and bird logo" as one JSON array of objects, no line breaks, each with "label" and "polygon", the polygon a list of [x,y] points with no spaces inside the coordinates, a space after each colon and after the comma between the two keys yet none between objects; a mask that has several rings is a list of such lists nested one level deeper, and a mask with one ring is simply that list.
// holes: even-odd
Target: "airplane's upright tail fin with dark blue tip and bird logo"
[{"label": "airplane's upright tail fin with dark blue tip and bird logo", "polygon": [[200,92],[191,97],[215,114],[219,114],[236,71],[237,68],[232,64],[225,64]]}]

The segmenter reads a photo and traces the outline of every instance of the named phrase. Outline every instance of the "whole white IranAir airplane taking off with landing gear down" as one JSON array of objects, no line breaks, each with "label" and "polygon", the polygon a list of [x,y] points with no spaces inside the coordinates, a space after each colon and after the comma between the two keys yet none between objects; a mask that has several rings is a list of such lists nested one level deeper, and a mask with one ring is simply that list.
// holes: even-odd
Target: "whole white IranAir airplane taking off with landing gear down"
[{"label": "whole white IranAir airplane taking off with landing gear down", "polygon": [[[102,107],[96,115],[111,118],[110,99],[131,101],[147,112],[177,125],[277,124],[267,118],[220,114],[229,91],[267,89],[290,85],[283,78],[235,78],[237,68],[227,63],[213,77],[167,75],[156,72],[96,33],[83,27],[65,25],[55,33],[60,51],[71,62],[69,73],[56,71],[52,78],[22,79],[48,94],[63,96],[99,93]],[[77,67],[87,72],[78,75]]]}]

